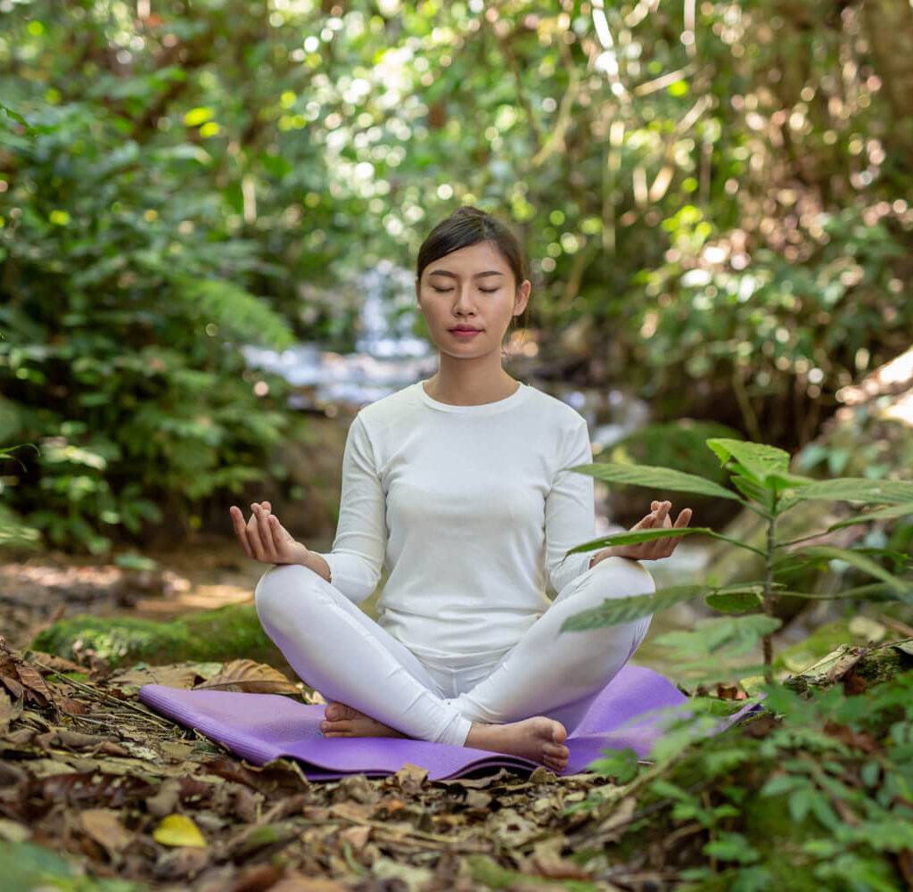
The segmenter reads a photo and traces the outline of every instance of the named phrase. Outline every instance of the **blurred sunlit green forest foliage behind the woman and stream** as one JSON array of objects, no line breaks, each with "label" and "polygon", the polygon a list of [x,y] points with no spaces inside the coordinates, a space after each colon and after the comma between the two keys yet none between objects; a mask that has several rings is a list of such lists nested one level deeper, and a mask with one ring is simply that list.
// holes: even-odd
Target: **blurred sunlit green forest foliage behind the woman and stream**
[{"label": "blurred sunlit green forest foliage behind the woman and stream", "polygon": [[656,423],[795,450],[910,344],[906,0],[0,12],[0,541],[287,476],[241,345],[351,351],[358,277],[463,203],[524,241],[536,361]]}]

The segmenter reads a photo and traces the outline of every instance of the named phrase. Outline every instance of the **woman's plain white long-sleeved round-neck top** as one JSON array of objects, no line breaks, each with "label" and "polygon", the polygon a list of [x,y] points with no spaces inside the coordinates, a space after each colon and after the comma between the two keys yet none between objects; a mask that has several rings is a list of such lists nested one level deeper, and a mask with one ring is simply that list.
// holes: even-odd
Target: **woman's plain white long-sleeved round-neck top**
[{"label": "woman's plain white long-sleeved round-neck top", "polygon": [[[519,382],[481,405],[441,403],[422,382],[363,406],[342,456],[331,582],[359,603],[381,567],[379,624],[435,666],[495,660],[555,592],[587,569],[596,538],[586,420]],[[562,562],[563,560],[563,562]]]}]

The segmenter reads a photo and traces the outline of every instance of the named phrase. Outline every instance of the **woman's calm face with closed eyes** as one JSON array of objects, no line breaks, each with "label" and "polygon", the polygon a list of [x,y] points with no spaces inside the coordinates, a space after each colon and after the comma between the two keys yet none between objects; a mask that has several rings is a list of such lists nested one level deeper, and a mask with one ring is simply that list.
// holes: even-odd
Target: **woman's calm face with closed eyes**
[{"label": "woman's calm face with closed eyes", "polygon": [[[440,350],[457,356],[500,352],[511,317],[530,299],[532,283],[519,289],[508,262],[490,242],[461,247],[439,257],[422,271],[416,299],[428,333]],[[457,327],[476,329],[460,335]]]}]

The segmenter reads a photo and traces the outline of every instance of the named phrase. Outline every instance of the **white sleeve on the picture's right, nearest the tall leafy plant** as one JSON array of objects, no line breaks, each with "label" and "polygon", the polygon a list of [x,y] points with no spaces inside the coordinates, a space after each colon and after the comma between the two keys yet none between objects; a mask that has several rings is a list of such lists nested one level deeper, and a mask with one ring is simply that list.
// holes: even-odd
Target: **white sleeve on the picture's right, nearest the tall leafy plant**
[{"label": "white sleeve on the picture's right, nearest the tall leafy plant", "polygon": [[568,555],[575,545],[596,538],[595,487],[593,477],[568,467],[593,464],[593,446],[586,419],[565,436],[561,462],[545,498],[545,559],[549,582],[555,593],[584,572],[595,551]]}]

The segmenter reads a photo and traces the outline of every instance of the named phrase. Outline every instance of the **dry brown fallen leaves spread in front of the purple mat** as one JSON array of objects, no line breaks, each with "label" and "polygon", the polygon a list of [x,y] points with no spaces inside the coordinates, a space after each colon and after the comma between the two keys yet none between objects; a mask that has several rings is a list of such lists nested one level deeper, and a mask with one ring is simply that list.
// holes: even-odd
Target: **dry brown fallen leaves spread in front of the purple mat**
[{"label": "dry brown fallen leaves spread in front of the purple mat", "polygon": [[0,840],[54,840],[102,874],[199,892],[340,892],[365,879],[430,892],[452,888],[454,871],[472,887],[470,855],[509,865],[498,869],[518,882],[584,876],[540,844],[564,838],[562,809],[605,782],[598,776],[500,769],[430,782],[407,763],[389,777],[309,782],[296,761],[248,764],[136,700],[143,684],[301,696],[268,666],[112,674],[96,661],[77,673],[32,656],[0,645],[10,679],[0,686]]}]

